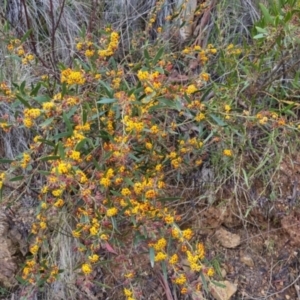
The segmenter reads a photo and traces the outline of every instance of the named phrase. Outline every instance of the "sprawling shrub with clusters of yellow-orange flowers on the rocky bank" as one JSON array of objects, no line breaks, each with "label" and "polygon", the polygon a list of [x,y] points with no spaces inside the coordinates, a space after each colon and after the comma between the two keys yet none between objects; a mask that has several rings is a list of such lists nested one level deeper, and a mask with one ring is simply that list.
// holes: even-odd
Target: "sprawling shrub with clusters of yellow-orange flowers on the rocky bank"
[{"label": "sprawling shrub with clusters of yellow-orange flowers on the rocky bank", "polygon": [[[144,255],[181,294],[192,294],[206,286],[215,269],[206,259],[204,241],[194,238],[180,210],[168,204],[181,200],[174,197],[173,180],[201,168],[208,155],[227,180],[229,173],[240,172],[234,169],[235,157],[245,149],[245,131],[293,134],[298,123],[275,105],[242,109],[236,101],[240,86],[234,91],[234,84],[212,82],[211,60],[218,57],[225,68],[234,69],[249,49],[195,45],[175,57],[155,43],[144,47],[140,61],[127,63],[116,58],[119,38],[106,28],[99,41],[79,39],[81,59],[60,65],[59,82],[43,75],[31,88],[0,85],[1,101],[24,105],[16,121],[1,119],[2,130],[24,126],[35,133],[30,149],[6,173],[22,173],[20,180],[42,177],[30,255],[20,277],[43,286],[64,272],[47,255],[59,226],[54,217],[65,213],[72,220],[68,234],[78,245],[73,271],[87,287],[96,284],[99,267],[117,264],[123,294],[138,299],[140,271],[130,261]],[[13,39],[8,49],[30,64],[35,58],[23,43]],[[199,74],[179,74],[178,61],[188,65],[195,60]],[[53,94],[43,94],[55,84]],[[0,188],[5,177],[0,174]]]}]

